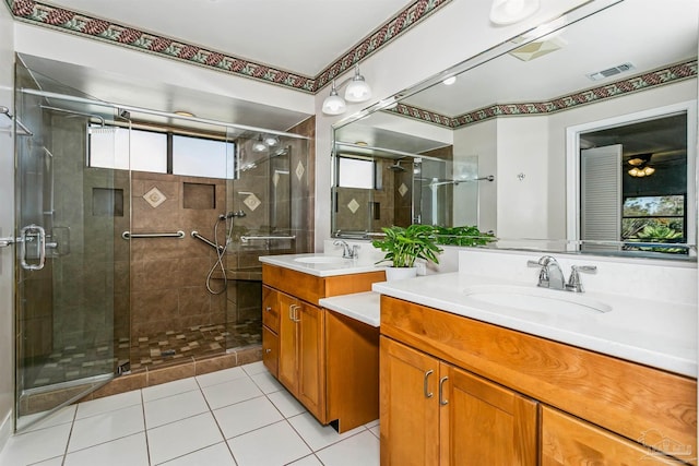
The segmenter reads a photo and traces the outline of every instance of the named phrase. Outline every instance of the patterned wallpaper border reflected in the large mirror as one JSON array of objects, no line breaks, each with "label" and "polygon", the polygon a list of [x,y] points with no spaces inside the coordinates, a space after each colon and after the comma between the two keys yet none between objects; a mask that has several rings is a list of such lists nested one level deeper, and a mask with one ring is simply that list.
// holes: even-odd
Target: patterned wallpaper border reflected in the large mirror
[{"label": "patterned wallpaper border reflected in the large mirror", "polygon": [[697,60],[691,60],[631,76],[626,80],[616,81],[600,87],[593,87],[576,94],[558,97],[549,101],[496,104],[457,117],[448,117],[446,115],[436,113],[430,110],[405,104],[399,104],[395,108],[384,111],[391,111],[403,117],[457,129],[498,117],[555,113],[557,111],[569,110],[581,105],[592,104],[618,97],[620,95],[644,91],[651,87],[672,84],[696,76]]}]

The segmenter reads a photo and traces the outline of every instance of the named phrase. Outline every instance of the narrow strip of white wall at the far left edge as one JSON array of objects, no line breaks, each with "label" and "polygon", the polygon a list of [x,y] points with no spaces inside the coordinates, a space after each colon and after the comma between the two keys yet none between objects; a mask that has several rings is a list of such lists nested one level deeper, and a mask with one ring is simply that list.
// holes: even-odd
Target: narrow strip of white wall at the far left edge
[{"label": "narrow strip of white wall at the far left edge", "polygon": [[[0,5],[0,105],[13,111],[14,44],[12,17]],[[14,228],[14,143],[7,131],[10,121],[0,116],[0,237]],[[12,432],[14,406],[14,247],[0,249],[0,450]]]}]

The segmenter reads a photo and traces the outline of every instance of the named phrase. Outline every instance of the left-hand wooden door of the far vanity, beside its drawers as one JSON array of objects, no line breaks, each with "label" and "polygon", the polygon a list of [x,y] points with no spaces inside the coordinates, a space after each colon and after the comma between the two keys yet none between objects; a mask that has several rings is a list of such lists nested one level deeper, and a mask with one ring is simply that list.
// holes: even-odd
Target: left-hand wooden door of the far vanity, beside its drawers
[{"label": "left-hand wooden door of the far vanity, beside its drawers", "polygon": [[298,392],[298,314],[300,304],[296,298],[279,294],[280,302],[280,359],[279,380],[292,393]]}]

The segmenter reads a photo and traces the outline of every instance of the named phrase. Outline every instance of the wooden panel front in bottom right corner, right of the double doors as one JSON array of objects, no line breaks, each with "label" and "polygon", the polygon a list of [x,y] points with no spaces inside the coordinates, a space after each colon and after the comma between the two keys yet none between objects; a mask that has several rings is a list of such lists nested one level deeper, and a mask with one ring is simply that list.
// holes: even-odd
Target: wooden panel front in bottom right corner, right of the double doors
[{"label": "wooden panel front in bottom right corner, right of the double doors", "polygon": [[[656,434],[661,443],[672,442],[670,439],[663,439],[660,432],[650,434]],[[691,446],[674,446],[677,449],[673,451],[682,454],[687,461],[696,457]],[[542,408],[541,450],[542,466],[685,464],[549,407]]]}]

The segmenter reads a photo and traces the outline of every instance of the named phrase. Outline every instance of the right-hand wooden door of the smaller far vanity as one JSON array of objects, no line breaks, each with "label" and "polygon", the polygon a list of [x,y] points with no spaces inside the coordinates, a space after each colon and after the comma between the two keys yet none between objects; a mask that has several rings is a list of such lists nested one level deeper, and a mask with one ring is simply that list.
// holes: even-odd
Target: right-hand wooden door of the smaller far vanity
[{"label": "right-hand wooden door of the smaller far vanity", "polygon": [[308,410],[325,422],[324,310],[304,302],[298,309],[298,392]]}]

